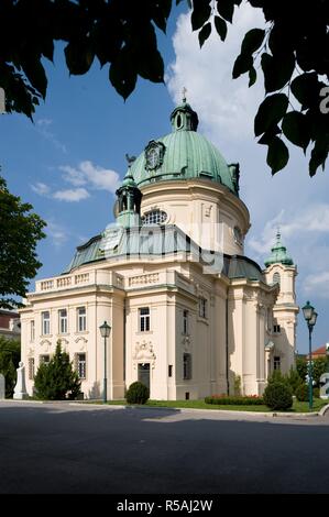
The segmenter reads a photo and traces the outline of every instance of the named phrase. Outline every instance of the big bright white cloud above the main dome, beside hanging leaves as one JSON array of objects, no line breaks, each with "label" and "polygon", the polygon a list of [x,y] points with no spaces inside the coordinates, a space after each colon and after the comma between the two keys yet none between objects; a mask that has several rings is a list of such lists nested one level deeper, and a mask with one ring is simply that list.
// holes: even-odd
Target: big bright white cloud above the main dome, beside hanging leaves
[{"label": "big bright white cloud above the main dome, beside hanging leaves", "polygon": [[244,3],[235,10],[233,24],[228,24],[227,40],[221,42],[212,29],[200,50],[190,14],[178,19],[173,41],[176,59],[166,76],[168,90],[175,102],[180,102],[182,88],[187,87],[187,100],[202,113],[202,128],[215,143],[219,136],[222,142],[253,135],[255,106],[263,96],[262,79],[249,89],[245,76],[232,81],[232,68],[245,32],[264,23],[262,11]]}]

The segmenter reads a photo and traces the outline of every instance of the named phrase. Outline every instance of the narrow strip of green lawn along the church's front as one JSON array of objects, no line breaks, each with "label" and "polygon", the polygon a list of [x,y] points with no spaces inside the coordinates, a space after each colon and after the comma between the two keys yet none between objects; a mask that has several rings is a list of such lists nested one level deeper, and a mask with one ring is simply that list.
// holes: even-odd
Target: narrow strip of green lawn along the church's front
[{"label": "narrow strip of green lawn along the church's front", "polygon": [[[123,405],[125,406],[125,400],[111,400],[108,402],[109,405]],[[322,400],[321,398],[314,399],[314,411],[319,411],[321,407],[326,406],[328,400]],[[224,409],[229,411],[256,411],[256,413],[273,413],[272,409],[268,409],[267,406],[226,406],[226,405],[213,405],[206,404],[204,400],[149,400],[145,406],[147,407],[172,407],[172,408],[190,408],[190,409]],[[145,407],[144,406],[144,407]],[[294,400],[292,409],[288,411],[275,411],[275,413],[308,413],[308,403],[299,403]]]}]

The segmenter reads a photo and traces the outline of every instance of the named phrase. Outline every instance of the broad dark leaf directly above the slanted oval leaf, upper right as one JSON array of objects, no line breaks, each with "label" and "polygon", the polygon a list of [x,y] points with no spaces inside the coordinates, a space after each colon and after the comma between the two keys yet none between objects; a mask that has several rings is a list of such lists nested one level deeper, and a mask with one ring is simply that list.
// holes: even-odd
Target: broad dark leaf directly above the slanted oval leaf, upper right
[{"label": "broad dark leaf directly above the slanted oval leaf, upper right", "polygon": [[264,53],[262,54],[262,68],[266,94],[281,90],[292,78],[295,69],[295,56],[293,53],[286,53],[276,58]]}]

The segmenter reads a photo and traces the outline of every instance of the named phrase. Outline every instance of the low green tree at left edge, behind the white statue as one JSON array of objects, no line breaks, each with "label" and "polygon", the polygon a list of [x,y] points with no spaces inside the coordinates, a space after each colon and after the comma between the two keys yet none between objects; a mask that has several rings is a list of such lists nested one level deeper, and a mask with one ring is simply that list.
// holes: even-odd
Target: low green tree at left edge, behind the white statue
[{"label": "low green tree at left edge, behind the white statue", "polygon": [[7,398],[13,395],[20,360],[20,341],[6,339],[3,336],[0,336],[0,373],[4,375]]}]

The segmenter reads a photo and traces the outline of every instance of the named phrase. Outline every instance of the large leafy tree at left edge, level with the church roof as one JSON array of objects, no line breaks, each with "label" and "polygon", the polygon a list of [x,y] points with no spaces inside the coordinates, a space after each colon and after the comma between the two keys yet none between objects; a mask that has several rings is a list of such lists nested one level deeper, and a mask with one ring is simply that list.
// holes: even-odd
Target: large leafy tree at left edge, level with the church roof
[{"label": "large leafy tree at left edge, level with the church roof", "polygon": [[19,306],[14,297],[25,296],[29,280],[41,266],[35,248],[45,237],[45,222],[32,209],[10,194],[0,177],[0,307]]}]

